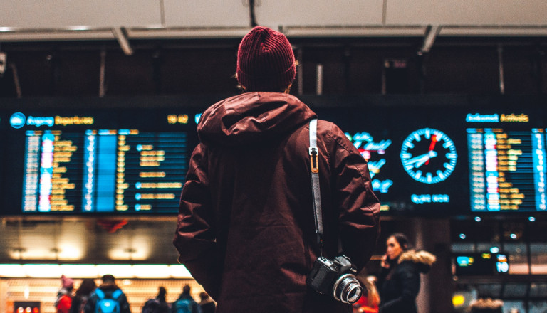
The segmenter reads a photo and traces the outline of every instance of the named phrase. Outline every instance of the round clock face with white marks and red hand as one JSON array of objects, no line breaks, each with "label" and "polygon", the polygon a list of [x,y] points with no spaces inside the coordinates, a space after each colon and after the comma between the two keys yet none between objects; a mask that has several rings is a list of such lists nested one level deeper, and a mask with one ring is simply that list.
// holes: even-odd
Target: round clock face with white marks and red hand
[{"label": "round clock face with white marks and red hand", "polygon": [[400,157],[410,177],[420,183],[436,184],[452,174],[458,154],[454,142],[444,132],[422,128],[402,142]]}]

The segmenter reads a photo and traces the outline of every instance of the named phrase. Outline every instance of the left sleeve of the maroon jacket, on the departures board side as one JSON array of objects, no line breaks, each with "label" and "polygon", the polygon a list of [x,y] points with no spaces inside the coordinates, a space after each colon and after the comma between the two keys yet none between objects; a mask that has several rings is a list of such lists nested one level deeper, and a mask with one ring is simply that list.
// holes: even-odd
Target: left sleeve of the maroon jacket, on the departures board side
[{"label": "left sleeve of the maroon jacket, on the departures board side", "polygon": [[192,153],[182,187],[173,244],[179,252],[179,262],[214,299],[218,295],[220,269],[214,264],[217,245],[212,216],[207,152],[199,144]]}]

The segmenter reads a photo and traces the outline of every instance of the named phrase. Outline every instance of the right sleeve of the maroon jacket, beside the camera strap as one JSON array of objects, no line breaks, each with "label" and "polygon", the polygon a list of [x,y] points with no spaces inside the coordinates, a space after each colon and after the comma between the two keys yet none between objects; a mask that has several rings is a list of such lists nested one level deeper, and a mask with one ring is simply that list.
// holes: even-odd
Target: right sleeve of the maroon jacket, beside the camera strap
[{"label": "right sleeve of the maroon jacket, beside the camera strap", "polygon": [[358,272],[370,260],[380,235],[380,201],[373,193],[367,161],[335,125],[330,131],[333,195],[338,206],[343,253]]}]

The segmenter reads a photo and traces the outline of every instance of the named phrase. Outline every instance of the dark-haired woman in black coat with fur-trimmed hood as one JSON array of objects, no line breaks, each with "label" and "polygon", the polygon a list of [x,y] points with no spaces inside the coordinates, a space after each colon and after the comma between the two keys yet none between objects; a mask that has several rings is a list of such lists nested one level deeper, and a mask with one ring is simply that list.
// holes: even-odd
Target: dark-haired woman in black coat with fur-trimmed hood
[{"label": "dark-haired woman in black coat with fur-trimmed hood", "polygon": [[387,238],[379,277],[380,313],[417,313],[420,273],[427,273],[436,258],[427,251],[410,249],[402,233]]}]

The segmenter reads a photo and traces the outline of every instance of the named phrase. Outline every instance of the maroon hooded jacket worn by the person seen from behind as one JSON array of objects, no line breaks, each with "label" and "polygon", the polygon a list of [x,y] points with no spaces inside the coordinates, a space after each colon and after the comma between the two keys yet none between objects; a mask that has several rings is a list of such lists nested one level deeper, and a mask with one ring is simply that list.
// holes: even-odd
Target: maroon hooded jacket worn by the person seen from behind
[{"label": "maroon hooded jacket worn by the person seen from behind", "polygon": [[[352,312],[306,286],[320,255],[303,102],[247,92],[207,109],[180,199],[174,245],[217,312]],[[318,121],[323,255],[358,270],[380,232],[365,159],[333,123]],[[338,239],[343,251],[338,251]]]}]

